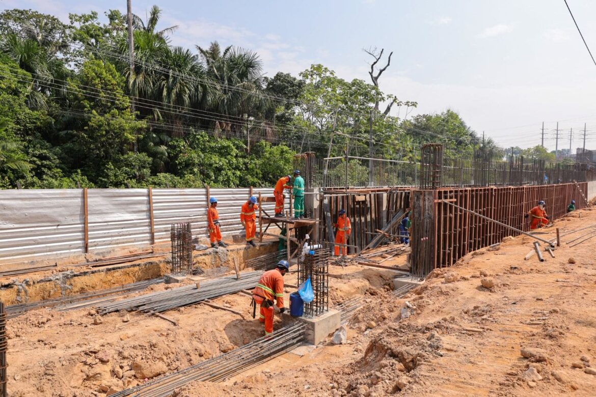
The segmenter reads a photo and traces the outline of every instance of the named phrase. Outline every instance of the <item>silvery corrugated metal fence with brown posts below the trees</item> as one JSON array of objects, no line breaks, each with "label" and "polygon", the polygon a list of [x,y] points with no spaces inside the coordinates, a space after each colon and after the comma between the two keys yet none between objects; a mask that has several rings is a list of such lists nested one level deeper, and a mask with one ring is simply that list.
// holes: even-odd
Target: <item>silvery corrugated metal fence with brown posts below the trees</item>
[{"label": "silvery corrugated metal fence with brown posts below the trees", "polygon": [[208,195],[218,198],[222,234],[234,235],[243,231],[240,207],[251,190],[273,195],[272,187],[0,190],[0,262],[167,242],[170,224],[182,221],[206,236]]}]

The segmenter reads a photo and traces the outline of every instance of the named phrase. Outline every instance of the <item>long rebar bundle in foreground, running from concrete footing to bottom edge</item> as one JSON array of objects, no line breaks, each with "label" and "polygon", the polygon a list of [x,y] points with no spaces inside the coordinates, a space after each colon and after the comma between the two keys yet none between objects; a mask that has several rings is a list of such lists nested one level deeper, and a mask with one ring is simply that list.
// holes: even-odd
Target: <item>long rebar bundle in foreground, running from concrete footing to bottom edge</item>
[{"label": "long rebar bundle in foreground, running from concrete footing to bottom edge", "polygon": [[262,364],[265,360],[284,354],[302,343],[305,325],[294,323],[263,336],[253,342],[226,354],[200,362],[184,370],[150,380],[132,389],[114,393],[113,397],[143,396],[166,397],[178,387],[191,382],[221,382],[230,377]]}]

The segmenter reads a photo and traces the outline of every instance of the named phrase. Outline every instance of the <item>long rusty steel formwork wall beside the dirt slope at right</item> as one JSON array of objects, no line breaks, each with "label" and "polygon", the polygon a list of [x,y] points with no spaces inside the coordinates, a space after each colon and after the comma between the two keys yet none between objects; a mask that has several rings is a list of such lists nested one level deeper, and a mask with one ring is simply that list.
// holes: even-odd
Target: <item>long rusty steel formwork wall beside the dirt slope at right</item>
[{"label": "long rusty steel formwork wall beside the dirt slope at right", "polygon": [[[455,264],[464,255],[480,248],[502,241],[504,237],[516,236],[516,232],[507,227],[477,217],[442,200],[451,202],[507,224],[523,231],[530,229],[530,218],[524,215],[544,200],[547,214],[558,218],[567,212],[567,205],[575,200],[576,208],[586,207],[582,193],[588,189],[586,182],[566,183],[563,185],[504,186],[504,187],[465,187],[457,189],[435,190],[436,205],[430,207],[426,201],[429,192],[418,190],[412,193],[414,213],[412,216],[412,273],[426,276],[433,268]],[[581,190],[581,192],[580,192]],[[433,208],[430,211],[429,208]],[[431,213],[432,212],[432,213]],[[428,220],[433,218],[433,230],[425,229]],[[422,226],[417,223],[423,223]],[[434,239],[433,248],[422,242],[429,233]],[[427,240],[424,240],[427,241]],[[433,267],[428,267],[424,256],[432,258]]]}]

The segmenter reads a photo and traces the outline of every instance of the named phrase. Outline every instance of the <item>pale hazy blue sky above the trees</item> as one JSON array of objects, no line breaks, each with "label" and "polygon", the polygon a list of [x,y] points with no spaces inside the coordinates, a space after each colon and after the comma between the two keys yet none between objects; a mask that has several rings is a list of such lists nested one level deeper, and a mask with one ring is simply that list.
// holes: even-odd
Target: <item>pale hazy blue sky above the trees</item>
[{"label": "pale hazy blue sky above the trees", "polygon": [[[596,55],[596,2],[567,2]],[[551,150],[558,121],[558,147],[568,149],[572,135],[573,152],[586,123],[586,148],[596,149],[596,65],[563,0],[132,0],[132,11],[144,18],[153,4],[163,10],[159,27],[178,25],[173,45],[194,50],[218,40],[252,49],[266,76],[297,76],[321,63],[370,82],[363,49],[384,48],[393,57],[380,88],[418,102],[408,117],[451,109],[480,136],[522,148],[541,143],[544,121]],[[125,12],[126,1],[0,0],[0,7],[67,22],[69,12]]]}]

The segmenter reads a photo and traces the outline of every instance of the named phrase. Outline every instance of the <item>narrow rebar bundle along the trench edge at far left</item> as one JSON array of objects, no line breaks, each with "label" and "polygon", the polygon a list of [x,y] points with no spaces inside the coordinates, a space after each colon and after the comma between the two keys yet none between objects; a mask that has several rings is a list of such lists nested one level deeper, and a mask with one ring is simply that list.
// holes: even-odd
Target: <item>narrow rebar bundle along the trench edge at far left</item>
[{"label": "narrow rebar bundle along the trench edge at far left", "polygon": [[24,312],[35,310],[42,307],[57,307],[58,310],[73,310],[83,307],[89,307],[98,302],[99,297],[103,300],[116,299],[118,296],[126,295],[132,292],[140,292],[151,285],[164,283],[166,277],[158,277],[157,279],[145,280],[141,282],[125,284],[119,287],[108,289],[100,289],[79,295],[61,296],[60,298],[45,299],[44,301],[30,302],[26,304],[10,305],[6,308],[8,318],[17,317]]}]

